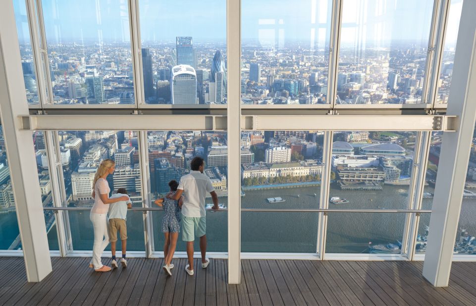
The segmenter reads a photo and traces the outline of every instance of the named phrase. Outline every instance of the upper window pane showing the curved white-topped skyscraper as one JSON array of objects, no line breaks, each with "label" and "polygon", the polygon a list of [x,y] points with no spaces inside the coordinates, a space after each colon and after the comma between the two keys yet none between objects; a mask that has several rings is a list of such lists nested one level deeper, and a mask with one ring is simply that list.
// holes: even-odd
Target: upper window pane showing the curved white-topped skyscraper
[{"label": "upper window pane showing the curved white-topped skyscraper", "polygon": [[226,103],[226,1],[140,0],[139,11],[146,103]]}]

